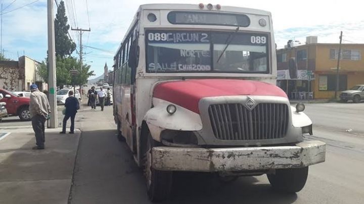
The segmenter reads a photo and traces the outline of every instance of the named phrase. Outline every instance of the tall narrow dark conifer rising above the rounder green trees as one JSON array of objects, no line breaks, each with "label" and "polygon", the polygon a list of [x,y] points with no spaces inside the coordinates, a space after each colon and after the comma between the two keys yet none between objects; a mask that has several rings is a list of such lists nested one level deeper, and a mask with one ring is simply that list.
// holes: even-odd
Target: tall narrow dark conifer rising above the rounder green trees
[{"label": "tall narrow dark conifer rising above the rounder green trees", "polygon": [[76,49],[76,44],[68,37],[70,26],[67,21],[64,2],[61,1],[55,19],[56,56],[61,58],[70,56]]}]

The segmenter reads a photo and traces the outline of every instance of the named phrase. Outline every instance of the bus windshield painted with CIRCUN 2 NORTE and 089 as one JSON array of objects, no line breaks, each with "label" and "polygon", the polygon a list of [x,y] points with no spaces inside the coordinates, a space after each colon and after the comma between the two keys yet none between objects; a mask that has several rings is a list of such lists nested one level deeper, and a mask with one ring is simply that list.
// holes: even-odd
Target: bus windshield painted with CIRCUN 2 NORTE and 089
[{"label": "bus windshield painted with CIRCUN 2 NORTE and 089", "polygon": [[265,33],[147,30],[147,72],[269,73],[268,39]]}]

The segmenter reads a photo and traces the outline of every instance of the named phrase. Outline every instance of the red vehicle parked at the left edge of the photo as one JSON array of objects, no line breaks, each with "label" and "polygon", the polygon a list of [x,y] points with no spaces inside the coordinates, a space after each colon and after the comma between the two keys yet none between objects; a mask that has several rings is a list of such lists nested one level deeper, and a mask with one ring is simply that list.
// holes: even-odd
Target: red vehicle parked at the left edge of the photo
[{"label": "red vehicle parked at the left edge of the photo", "polygon": [[30,121],[30,98],[20,97],[18,94],[5,89],[0,89],[0,93],[4,96],[0,102],[5,102],[7,104],[6,109],[9,115],[19,116],[21,121]]}]

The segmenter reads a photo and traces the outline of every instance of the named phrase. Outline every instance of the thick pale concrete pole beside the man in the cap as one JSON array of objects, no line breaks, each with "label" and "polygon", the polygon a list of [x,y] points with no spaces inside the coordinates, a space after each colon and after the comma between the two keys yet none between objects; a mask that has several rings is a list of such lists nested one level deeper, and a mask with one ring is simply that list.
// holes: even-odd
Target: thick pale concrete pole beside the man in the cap
[{"label": "thick pale concrete pole beside the man in the cap", "polygon": [[48,89],[51,105],[50,128],[57,128],[57,98],[56,98],[56,46],[55,27],[53,19],[53,0],[48,0]]}]

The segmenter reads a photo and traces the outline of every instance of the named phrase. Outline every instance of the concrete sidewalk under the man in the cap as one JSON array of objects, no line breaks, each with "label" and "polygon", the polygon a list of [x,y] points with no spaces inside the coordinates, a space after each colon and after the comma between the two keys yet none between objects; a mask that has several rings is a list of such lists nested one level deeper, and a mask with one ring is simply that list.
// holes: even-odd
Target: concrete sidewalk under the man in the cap
[{"label": "concrete sidewalk under the man in the cap", "polygon": [[45,149],[31,126],[0,129],[0,203],[67,203],[80,131],[45,130]]}]

